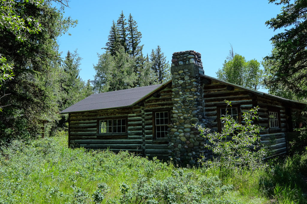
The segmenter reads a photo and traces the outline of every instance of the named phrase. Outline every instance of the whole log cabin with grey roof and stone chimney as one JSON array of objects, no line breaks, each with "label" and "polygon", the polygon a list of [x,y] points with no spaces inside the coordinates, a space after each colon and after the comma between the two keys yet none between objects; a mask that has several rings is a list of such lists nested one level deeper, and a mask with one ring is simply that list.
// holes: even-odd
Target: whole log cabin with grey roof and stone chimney
[{"label": "whole log cabin with grey roof and stone chimney", "polygon": [[264,127],[261,142],[273,138],[274,154],[287,153],[292,115],[306,104],[207,76],[195,51],[173,54],[171,80],[164,84],[92,94],[61,113],[68,114],[69,147],[127,150],[195,164],[211,153],[192,124],[220,131],[225,99],[232,102],[227,111],[239,123],[243,112],[258,105],[261,119],[256,123]]}]

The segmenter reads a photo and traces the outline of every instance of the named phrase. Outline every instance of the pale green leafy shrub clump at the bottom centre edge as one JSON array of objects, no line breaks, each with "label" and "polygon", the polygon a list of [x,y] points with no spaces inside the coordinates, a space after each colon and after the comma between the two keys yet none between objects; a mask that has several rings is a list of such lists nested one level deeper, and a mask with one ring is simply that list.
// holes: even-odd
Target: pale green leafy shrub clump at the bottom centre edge
[{"label": "pale green leafy shrub clump at the bottom centre edge", "polygon": [[232,203],[222,197],[233,187],[223,185],[218,177],[197,178],[179,169],[163,180],[140,176],[131,186],[122,183],[120,188],[120,197],[111,203]]}]

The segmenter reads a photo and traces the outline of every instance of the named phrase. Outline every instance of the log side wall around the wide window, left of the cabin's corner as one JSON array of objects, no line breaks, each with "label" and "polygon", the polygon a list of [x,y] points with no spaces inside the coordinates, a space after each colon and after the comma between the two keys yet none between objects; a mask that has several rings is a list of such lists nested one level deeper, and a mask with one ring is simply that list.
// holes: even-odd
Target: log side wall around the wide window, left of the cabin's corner
[{"label": "log side wall around the wide window, left of the cabin's corner", "polygon": [[[114,116],[127,118],[127,133],[97,134],[99,119]],[[70,147],[82,146],[87,149],[110,149],[114,152],[128,150],[129,152],[144,155],[142,108],[114,108],[70,113],[68,140]]]}]

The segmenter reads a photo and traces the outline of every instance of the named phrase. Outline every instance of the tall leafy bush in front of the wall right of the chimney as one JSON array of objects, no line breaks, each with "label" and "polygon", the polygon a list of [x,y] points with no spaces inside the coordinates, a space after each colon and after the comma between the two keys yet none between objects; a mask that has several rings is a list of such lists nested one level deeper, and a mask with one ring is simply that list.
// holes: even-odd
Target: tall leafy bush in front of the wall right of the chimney
[{"label": "tall leafy bush in front of the wall right of the chimney", "polygon": [[[225,100],[227,107],[231,102]],[[227,108],[226,107],[226,108]],[[269,149],[260,142],[260,130],[263,128],[254,124],[257,121],[259,107],[243,112],[242,123],[236,122],[230,115],[222,117],[222,131],[211,132],[211,129],[197,125],[201,135],[208,138],[206,148],[213,153],[213,158],[203,158],[200,162],[208,167],[218,166],[221,169],[255,169],[266,165],[263,158]]]}]

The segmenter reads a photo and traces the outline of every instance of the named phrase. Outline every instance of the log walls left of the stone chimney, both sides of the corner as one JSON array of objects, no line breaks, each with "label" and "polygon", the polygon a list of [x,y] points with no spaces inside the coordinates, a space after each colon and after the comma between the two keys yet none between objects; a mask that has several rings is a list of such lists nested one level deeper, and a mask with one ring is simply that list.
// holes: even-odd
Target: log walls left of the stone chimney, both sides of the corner
[{"label": "log walls left of the stone chimney, both sides of the corner", "polygon": [[[127,150],[140,156],[168,159],[168,138],[153,138],[153,112],[172,109],[170,86],[158,90],[159,96],[152,96],[139,106],[69,113],[69,147]],[[97,134],[99,119],[112,117],[127,119],[127,133]]]}]

